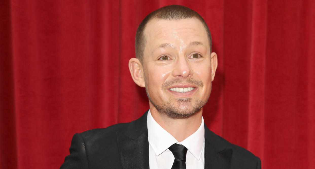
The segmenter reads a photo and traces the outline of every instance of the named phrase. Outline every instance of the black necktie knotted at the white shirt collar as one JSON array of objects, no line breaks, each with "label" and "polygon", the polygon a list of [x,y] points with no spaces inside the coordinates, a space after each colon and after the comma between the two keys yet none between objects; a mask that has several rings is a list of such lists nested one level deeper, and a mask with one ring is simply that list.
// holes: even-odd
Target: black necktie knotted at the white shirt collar
[{"label": "black necktie knotted at the white shirt collar", "polygon": [[173,144],[169,147],[175,159],[171,169],[186,169],[186,153],[187,148],[184,145]]}]

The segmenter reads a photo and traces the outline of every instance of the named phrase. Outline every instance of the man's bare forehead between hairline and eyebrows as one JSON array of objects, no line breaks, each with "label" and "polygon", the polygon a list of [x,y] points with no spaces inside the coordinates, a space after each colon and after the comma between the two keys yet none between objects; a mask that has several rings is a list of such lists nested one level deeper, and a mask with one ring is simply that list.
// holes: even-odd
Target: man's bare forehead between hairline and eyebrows
[{"label": "man's bare forehead between hairline and eyebrows", "polygon": [[145,51],[165,43],[182,46],[193,41],[202,42],[210,48],[207,32],[197,18],[152,19],[146,25],[144,36],[146,39]]}]

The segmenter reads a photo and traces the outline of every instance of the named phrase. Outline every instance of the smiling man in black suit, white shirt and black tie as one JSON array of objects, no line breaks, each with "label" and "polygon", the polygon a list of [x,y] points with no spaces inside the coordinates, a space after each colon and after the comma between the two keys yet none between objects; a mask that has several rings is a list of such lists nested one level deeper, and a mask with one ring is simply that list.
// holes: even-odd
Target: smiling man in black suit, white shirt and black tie
[{"label": "smiling man in black suit, white shirt and black tie", "polygon": [[258,157],[204,125],[217,55],[198,13],[179,5],[153,11],[135,49],[129,70],[150,109],[130,123],[75,134],[60,168],[261,168]]}]

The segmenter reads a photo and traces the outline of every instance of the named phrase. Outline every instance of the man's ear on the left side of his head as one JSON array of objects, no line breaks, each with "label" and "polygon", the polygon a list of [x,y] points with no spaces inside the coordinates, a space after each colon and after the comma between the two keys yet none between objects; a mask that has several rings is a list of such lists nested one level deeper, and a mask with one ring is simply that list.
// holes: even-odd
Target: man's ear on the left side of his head
[{"label": "man's ear on the left side of his head", "polygon": [[139,59],[131,58],[129,60],[129,71],[134,82],[140,87],[146,87],[144,82],[143,67]]}]

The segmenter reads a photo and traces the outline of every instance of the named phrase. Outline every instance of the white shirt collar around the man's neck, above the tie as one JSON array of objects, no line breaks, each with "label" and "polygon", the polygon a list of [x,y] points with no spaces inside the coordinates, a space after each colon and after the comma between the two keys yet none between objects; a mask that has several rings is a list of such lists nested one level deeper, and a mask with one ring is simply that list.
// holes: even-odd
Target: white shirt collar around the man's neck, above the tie
[{"label": "white shirt collar around the man's neck, above the tie", "polygon": [[171,134],[163,129],[152,117],[149,110],[147,116],[148,140],[157,156],[162,154],[171,145],[184,145],[196,159],[200,159],[204,145],[204,121],[201,118],[199,128],[185,140],[178,142]]}]

